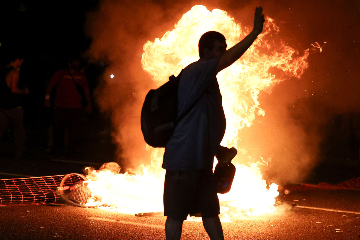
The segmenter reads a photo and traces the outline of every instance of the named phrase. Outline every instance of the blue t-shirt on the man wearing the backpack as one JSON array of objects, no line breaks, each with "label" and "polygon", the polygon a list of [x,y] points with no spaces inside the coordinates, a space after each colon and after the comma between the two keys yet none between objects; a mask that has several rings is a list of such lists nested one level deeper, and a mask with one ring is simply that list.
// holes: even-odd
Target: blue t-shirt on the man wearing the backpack
[{"label": "blue t-shirt on the man wearing the backpack", "polygon": [[195,107],[177,124],[165,146],[162,167],[167,170],[212,169],[216,150],[224,137],[226,121],[216,79],[220,58],[188,65],[180,78],[178,116]]}]

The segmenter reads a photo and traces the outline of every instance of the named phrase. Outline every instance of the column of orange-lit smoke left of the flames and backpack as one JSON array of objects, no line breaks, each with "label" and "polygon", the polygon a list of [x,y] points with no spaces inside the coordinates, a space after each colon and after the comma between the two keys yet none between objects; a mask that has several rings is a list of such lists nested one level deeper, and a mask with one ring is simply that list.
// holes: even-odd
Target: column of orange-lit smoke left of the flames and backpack
[{"label": "column of orange-lit smoke left of the flames and backpack", "polygon": [[111,118],[122,168],[150,159],[141,134],[140,112],[146,92],[154,86],[140,59],[144,43],[169,28],[171,12],[163,8],[152,1],[101,1],[98,10],[87,17],[86,31],[92,38],[88,54],[108,64],[95,98]]}]

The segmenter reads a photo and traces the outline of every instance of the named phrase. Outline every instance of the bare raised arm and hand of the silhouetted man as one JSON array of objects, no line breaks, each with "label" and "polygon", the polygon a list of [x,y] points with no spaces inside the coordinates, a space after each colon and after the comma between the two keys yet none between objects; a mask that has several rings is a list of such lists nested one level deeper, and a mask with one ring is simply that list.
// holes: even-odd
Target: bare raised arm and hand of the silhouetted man
[{"label": "bare raised arm and hand of the silhouetted man", "polygon": [[238,42],[221,56],[220,62],[217,64],[216,72],[220,72],[222,69],[229,67],[245,53],[257,36],[262,32],[264,22],[265,19],[264,14],[262,14],[262,7],[256,7],[253,30],[242,41]]}]

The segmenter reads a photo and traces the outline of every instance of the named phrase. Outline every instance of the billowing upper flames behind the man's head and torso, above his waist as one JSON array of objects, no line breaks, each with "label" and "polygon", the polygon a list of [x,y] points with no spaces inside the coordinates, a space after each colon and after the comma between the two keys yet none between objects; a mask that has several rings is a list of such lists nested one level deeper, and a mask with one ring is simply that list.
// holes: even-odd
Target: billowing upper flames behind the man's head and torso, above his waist
[{"label": "billowing upper flames behind the man's head and torso, above his waist", "polygon": [[[177,75],[181,69],[198,60],[198,41],[207,31],[222,33],[228,47],[249,33],[242,31],[240,24],[223,10],[210,12],[205,6],[194,6],[175,24],[174,30],[166,32],[161,39],[145,43],[141,59],[143,69],[159,86],[162,85],[169,76]],[[266,17],[264,31],[242,58],[217,74],[227,121],[222,144],[237,146],[238,131],[251,126],[256,115],[264,116],[257,100],[259,93],[270,90],[271,86],[283,80],[276,78],[269,69],[276,67],[288,76],[300,77],[308,66],[308,50],[295,58],[293,55],[298,55],[298,52],[293,48],[283,43],[270,45],[266,37],[273,31],[279,32],[279,28],[273,19]],[[263,53],[265,51],[268,54]]]}]

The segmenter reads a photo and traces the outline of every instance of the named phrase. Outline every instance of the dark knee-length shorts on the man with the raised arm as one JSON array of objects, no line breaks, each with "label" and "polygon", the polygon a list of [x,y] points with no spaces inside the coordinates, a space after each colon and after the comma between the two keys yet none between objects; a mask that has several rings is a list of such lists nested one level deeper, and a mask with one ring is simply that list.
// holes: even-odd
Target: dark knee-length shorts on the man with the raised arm
[{"label": "dark knee-length shorts on the man with the raised arm", "polygon": [[220,214],[219,198],[212,171],[168,171],[164,184],[164,215],[179,221],[188,214],[202,218]]}]

